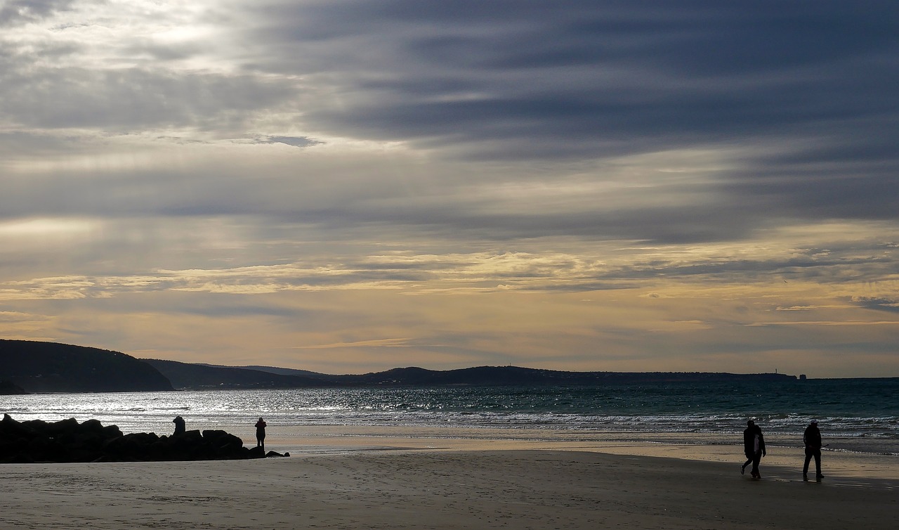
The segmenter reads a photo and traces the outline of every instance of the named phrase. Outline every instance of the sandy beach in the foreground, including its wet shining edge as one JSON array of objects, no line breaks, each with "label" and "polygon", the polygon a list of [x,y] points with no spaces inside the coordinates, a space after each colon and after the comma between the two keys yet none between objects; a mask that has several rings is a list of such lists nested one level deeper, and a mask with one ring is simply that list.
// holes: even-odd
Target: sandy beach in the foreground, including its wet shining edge
[{"label": "sandy beach in the foreground, including its wet shining edge", "polygon": [[771,446],[753,481],[735,445],[282,430],[268,448],[289,458],[3,465],[0,528],[821,530],[894,528],[899,513],[889,455],[827,453],[816,483],[801,449]]}]

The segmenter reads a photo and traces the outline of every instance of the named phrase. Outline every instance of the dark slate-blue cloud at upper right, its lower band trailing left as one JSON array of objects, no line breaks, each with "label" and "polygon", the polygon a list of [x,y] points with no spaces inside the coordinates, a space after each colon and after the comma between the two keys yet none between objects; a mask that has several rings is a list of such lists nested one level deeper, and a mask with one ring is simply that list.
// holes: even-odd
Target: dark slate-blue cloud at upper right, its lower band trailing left
[{"label": "dark slate-blue cloud at upper right, its lower band trailing left", "polygon": [[381,220],[678,243],[896,218],[893,2],[270,2],[250,18],[246,38],[271,52],[252,67],[331,87],[304,109],[315,130],[469,161],[745,152],[715,175],[715,204],[485,216],[458,203]]}]

